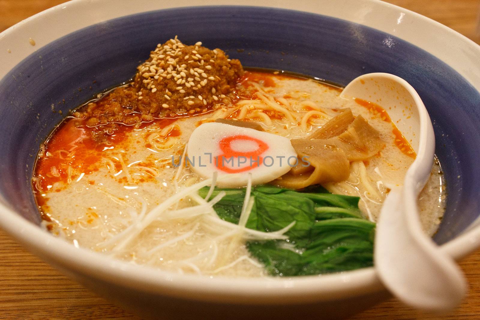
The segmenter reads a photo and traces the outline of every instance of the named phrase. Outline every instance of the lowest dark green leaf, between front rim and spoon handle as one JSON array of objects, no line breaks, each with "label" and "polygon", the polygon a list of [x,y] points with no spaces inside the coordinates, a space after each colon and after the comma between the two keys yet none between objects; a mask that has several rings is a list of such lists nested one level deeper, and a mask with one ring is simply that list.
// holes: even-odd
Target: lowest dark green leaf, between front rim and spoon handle
[{"label": "lowest dark green leaf, between front rim and spoon handle", "polygon": [[283,240],[249,242],[247,248],[272,275],[354,270],[373,265],[374,227],[374,223],[358,218],[331,219],[315,223],[312,241],[299,252],[282,248]]}]

